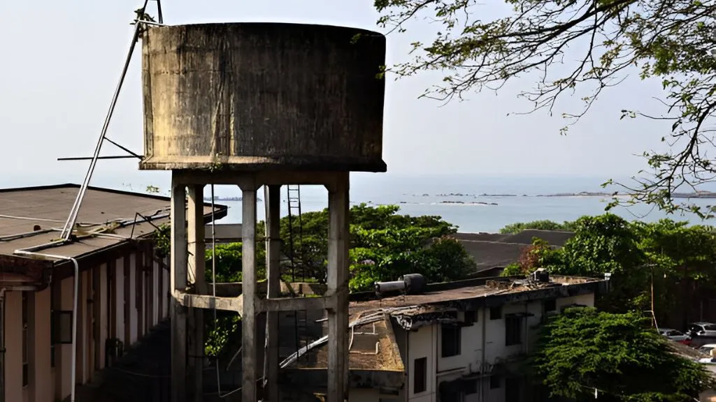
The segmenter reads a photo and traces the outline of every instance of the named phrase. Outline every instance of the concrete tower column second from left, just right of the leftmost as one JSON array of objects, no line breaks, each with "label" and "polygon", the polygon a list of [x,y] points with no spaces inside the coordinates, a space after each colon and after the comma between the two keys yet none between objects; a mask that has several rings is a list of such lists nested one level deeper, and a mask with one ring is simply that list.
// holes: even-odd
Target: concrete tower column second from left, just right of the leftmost
[{"label": "concrete tower column second from left, just right of the leftmost", "polygon": [[[205,245],[204,245],[204,186],[190,185],[187,216],[188,241],[188,278],[193,283],[195,293],[206,294]],[[204,319],[203,310],[193,308],[189,312],[188,358],[190,394],[193,401],[203,398],[203,358],[204,356]]]}]

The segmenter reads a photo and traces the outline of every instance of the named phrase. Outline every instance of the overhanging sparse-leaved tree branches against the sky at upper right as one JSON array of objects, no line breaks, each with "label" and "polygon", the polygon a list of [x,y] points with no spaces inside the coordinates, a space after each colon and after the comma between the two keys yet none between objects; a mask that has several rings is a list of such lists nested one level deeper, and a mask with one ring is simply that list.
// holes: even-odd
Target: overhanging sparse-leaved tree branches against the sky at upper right
[{"label": "overhanging sparse-leaved tree branches against the sky at upper right", "polygon": [[[387,68],[397,77],[437,70],[442,83],[424,97],[448,102],[468,92],[498,90],[516,77],[535,80],[521,95],[532,110],[551,114],[561,97],[577,94],[576,123],[609,87],[629,72],[662,82],[664,114],[623,109],[621,118],[672,122],[659,134],[667,152],[644,152],[649,171],[634,185],[622,184],[634,202],[667,211],[688,208],[711,216],[715,207],[677,205],[673,193],[710,182],[715,173],[709,151],[716,108],[716,57],[712,55],[716,4],[700,0],[510,0],[506,16],[487,20],[474,0],[374,0],[380,26],[405,32],[413,19],[439,26],[430,43],[413,44],[410,62]],[[569,55],[566,54],[569,50]],[[574,105],[578,102],[569,102]],[[566,127],[563,129],[566,131]],[[605,183],[606,184],[606,183]]]}]

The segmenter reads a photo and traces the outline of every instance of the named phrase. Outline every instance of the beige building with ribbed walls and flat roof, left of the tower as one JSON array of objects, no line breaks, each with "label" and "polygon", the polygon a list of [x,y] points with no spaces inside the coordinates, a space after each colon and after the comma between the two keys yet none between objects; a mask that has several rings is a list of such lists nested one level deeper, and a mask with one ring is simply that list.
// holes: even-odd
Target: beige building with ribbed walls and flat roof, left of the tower
[{"label": "beige building with ribbed walls and flat roof, left of the tower", "polygon": [[[0,190],[0,401],[54,402],[122,355],[168,316],[169,271],[153,234],[168,197],[90,187],[73,241],[56,242],[78,185]],[[215,217],[226,216],[216,206]],[[211,220],[211,207],[204,207]],[[16,250],[67,256],[74,263]],[[76,350],[72,358],[73,315]]]}]

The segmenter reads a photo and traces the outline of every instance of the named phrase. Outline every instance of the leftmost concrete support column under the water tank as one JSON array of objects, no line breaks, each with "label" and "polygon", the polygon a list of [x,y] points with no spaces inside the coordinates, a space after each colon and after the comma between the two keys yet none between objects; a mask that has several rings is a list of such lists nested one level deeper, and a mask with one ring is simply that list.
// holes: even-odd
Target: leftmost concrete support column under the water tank
[{"label": "leftmost concrete support column under the water tank", "polygon": [[186,190],[172,172],[171,205],[171,329],[172,329],[172,402],[185,402],[186,396],[186,309],[177,300],[176,290],[187,283]]}]

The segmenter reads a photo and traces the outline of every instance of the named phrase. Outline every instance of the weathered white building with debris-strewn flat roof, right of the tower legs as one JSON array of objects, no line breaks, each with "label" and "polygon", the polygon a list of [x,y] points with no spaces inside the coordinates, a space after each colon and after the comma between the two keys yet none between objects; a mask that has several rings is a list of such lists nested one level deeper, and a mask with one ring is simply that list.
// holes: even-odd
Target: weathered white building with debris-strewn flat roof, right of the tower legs
[{"label": "weathered white building with debris-strewn flat roof, right of the tower legs", "polygon": [[[350,401],[531,401],[533,389],[518,366],[539,326],[568,306],[593,306],[606,285],[562,276],[473,279],[353,301]],[[316,369],[324,368],[324,349],[291,366],[284,388],[297,394],[321,383]]]}]

